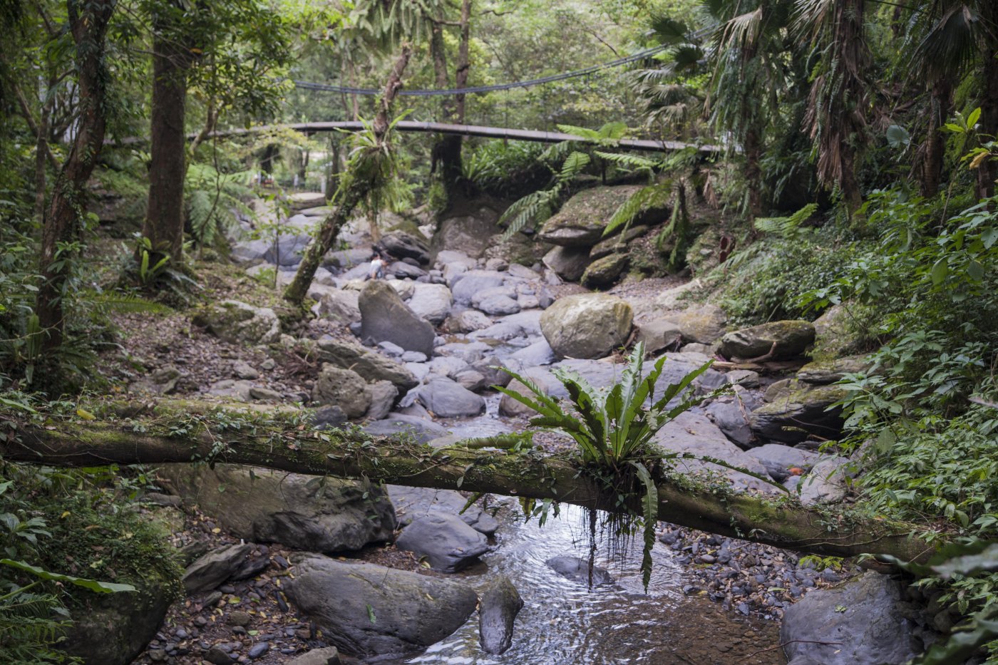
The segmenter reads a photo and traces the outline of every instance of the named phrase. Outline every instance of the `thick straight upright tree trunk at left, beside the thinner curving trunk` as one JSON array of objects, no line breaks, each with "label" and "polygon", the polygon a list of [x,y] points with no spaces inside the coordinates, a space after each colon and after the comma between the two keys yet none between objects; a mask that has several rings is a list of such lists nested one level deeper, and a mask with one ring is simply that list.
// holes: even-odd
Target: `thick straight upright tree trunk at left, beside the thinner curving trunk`
[{"label": "thick straight upright tree trunk at left, beside the thinner curving trunk", "polygon": [[153,40],[153,108],[149,165],[149,205],[142,235],[153,248],[150,264],[169,256],[183,261],[184,178],[187,173],[187,70],[190,53],[167,26]]}]

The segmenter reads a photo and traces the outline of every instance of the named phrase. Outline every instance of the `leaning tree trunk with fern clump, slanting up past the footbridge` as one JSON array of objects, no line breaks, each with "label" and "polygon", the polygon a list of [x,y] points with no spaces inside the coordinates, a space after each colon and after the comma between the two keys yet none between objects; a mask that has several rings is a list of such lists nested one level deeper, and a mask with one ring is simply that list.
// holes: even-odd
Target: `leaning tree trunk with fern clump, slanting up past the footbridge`
[{"label": "leaning tree trunk with fern clump, slanting up past the footbridge", "polygon": [[[378,104],[378,112],[372,125],[376,144],[375,150],[380,151],[383,146],[384,136],[388,132],[388,124],[391,122],[391,105],[402,87],[402,73],[405,71],[405,66],[409,64],[411,55],[412,47],[409,44],[403,44],[402,52],[395,61],[391,74],[388,76],[388,82],[384,86],[384,92],[381,94],[381,100]],[[308,287],[311,286],[311,281],[315,277],[315,271],[318,270],[318,266],[322,262],[322,257],[332,249],[332,244],[336,241],[339,230],[349,221],[354,209],[367,198],[371,183],[351,176],[352,174],[349,173],[343,176],[349,180],[345,188],[339,187],[336,190],[336,196],[332,202],[336,209],[322,220],[318,237],[308,244],[308,249],[305,250],[304,256],[301,258],[301,264],[294,274],[294,279],[284,290],[284,300],[292,305],[300,306],[304,301]]]}]

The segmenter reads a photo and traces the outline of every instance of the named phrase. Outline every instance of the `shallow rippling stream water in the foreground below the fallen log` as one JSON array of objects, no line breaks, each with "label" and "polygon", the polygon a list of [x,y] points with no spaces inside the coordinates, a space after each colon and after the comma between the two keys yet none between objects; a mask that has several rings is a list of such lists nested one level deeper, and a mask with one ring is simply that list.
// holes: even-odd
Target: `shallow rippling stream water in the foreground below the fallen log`
[{"label": "shallow rippling stream water in the foreground below the fallen log", "polygon": [[[515,501],[507,505],[519,514]],[[516,620],[513,646],[493,656],[478,646],[478,615],[449,638],[419,656],[398,663],[420,665],[574,665],[594,663],[650,665],[693,663],[784,663],[778,626],[735,617],[706,598],[686,596],[680,566],[672,551],[656,543],[648,594],[641,583],[641,544],[635,540],[623,558],[608,560],[606,547],[597,564],[610,570],[614,584],[587,588],[544,562],[552,556],[588,556],[585,513],[565,505],[558,518],[540,527],[510,515],[496,534],[498,546],[483,557],[485,567],[462,575],[482,586],[505,573],[524,607]],[[760,652],[761,653],[758,653]]]}]

